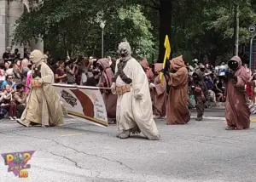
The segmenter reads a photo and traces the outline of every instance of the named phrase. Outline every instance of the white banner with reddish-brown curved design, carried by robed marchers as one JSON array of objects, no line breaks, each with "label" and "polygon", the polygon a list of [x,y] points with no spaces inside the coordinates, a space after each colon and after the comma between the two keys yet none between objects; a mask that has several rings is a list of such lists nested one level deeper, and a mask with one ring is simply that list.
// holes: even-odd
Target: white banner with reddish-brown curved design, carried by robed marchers
[{"label": "white banner with reddish-brown curved design, carried by robed marchers", "polygon": [[108,127],[107,111],[99,88],[53,84],[67,113],[85,122]]}]

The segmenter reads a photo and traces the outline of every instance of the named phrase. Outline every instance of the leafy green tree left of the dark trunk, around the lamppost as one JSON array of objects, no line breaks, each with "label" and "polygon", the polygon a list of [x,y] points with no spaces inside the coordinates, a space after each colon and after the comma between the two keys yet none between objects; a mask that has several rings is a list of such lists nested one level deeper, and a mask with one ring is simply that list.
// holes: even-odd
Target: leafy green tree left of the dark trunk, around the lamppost
[{"label": "leafy green tree left of the dark trunk, around the lamppost", "polygon": [[111,1],[45,0],[31,13],[17,21],[15,43],[29,43],[42,37],[47,48],[76,54],[101,54],[100,19],[106,21],[104,48],[106,54],[116,54],[122,40],[131,43],[135,56],[151,57],[154,38],[149,20],[139,5],[122,6]]}]

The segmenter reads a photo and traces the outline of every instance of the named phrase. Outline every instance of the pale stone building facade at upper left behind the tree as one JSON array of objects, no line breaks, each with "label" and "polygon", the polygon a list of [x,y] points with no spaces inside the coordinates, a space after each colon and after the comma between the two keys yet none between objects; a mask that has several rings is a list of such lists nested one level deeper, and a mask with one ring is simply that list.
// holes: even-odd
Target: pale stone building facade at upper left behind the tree
[{"label": "pale stone building facade at upper left behind the tree", "polygon": [[[15,21],[19,19],[20,15],[26,10],[26,6],[22,1],[12,1],[0,0],[0,59],[2,59],[2,54],[5,52],[7,47],[12,48],[14,52],[15,48],[19,48],[19,52],[23,55],[24,46],[22,45],[12,45],[12,34],[15,31]],[[39,49],[44,50],[43,41],[35,43],[32,42],[31,50]]]}]

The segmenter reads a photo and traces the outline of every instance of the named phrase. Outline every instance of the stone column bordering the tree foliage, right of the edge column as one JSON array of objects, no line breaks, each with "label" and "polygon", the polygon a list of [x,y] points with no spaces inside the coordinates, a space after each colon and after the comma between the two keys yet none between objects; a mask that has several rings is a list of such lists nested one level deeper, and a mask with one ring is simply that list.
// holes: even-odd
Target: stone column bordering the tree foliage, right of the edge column
[{"label": "stone column bordering the tree foliage, right of the edge column", "polygon": [[[24,11],[24,4],[21,1],[13,1],[9,3],[9,45],[11,45],[13,37],[12,34],[15,31],[15,22],[20,18]],[[15,48],[19,49],[21,57],[23,57],[24,46],[23,45],[13,45],[12,52]]]}]

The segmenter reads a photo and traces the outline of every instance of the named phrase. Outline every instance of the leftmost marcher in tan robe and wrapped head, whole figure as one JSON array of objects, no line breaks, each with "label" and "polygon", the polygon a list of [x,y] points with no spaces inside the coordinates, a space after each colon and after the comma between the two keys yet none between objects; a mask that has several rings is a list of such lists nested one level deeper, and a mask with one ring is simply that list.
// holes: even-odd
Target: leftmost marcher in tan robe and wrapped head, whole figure
[{"label": "leftmost marcher in tan robe and wrapped head, whole figure", "polygon": [[30,54],[32,61],[32,90],[28,96],[26,109],[17,122],[28,127],[40,124],[43,127],[61,126],[64,117],[61,100],[52,86],[54,73],[44,62],[44,54],[34,50]]}]

